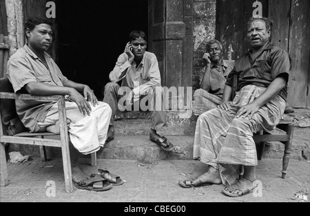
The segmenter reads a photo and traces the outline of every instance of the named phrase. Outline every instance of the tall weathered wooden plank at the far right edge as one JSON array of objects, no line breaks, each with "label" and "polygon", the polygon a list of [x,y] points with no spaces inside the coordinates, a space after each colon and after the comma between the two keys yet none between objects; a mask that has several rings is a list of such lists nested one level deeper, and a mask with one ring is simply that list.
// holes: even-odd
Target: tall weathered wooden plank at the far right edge
[{"label": "tall weathered wooden plank at the far right edge", "polygon": [[309,19],[310,1],[292,1],[289,54],[293,67],[289,76],[288,102],[293,107],[307,107],[310,58]]}]

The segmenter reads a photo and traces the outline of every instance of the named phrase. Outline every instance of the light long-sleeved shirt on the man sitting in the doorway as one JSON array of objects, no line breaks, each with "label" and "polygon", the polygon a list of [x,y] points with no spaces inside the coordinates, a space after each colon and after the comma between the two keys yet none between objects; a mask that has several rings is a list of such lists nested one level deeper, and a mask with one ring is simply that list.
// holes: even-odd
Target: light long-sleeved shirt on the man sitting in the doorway
[{"label": "light long-sleeved shirt on the man sitting in the doorway", "polygon": [[[126,69],[125,76],[121,77]],[[122,80],[122,87],[130,87],[135,95],[147,94],[152,87],[161,85],[161,72],[155,54],[145,52],[140,65],[134,61],[130,64],[127,54],[121,54],[110,73],[110,80],[114,83]]]}]

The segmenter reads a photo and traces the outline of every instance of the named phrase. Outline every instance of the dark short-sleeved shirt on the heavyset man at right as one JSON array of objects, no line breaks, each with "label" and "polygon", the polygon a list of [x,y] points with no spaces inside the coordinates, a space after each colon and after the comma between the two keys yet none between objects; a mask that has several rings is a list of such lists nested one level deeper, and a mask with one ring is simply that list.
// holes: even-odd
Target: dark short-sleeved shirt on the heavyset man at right
[{"label": "dark short-sleeved shirt on the heavyset man at right", "polygon": [[[258,51],[256,58],[251,56],[254,55],[250,51],[236,61],[233,71],[227,76],[226,85],[233,85],[234,74],[239,76],[238,89],[242,89],[246,85],[268,87],[279,76],[288,81],[291,58],[287,51],[267,43]],[[287,100],[287,85],[279,95]]]}]

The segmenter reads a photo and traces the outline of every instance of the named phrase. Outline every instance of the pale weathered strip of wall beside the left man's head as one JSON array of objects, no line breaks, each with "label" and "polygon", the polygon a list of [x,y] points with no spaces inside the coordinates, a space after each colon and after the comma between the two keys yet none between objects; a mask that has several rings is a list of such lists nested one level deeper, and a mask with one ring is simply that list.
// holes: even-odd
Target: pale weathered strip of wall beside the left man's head
[{"label": "pale weathered strip of wall beside the left man's head", "polygon": [[10,56],[25,44],[22,0],[6,0]]}]

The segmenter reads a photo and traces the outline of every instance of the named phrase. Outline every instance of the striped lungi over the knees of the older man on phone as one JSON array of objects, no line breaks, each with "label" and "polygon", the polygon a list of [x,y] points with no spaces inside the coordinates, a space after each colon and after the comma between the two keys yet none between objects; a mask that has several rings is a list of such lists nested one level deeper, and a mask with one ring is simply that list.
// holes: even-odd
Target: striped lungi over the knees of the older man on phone
[{"label": "striped lungi over the knees of the older man on phone", "polygon": [[198,89],[194,92],[193,113],[196,116],[204,114],[206,111],[218,107],[222,103],[222,98],[210,94],[204,89]]}]

